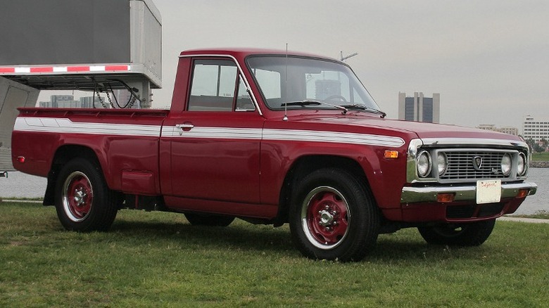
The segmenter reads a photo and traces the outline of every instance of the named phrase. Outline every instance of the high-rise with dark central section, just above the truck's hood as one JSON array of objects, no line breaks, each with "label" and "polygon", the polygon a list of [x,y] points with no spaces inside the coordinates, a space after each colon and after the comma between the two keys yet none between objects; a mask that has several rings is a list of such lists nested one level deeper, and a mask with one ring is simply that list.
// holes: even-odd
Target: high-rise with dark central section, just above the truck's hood
[{"label": "high-rise with dark central section, just above the truck's hood", "polygon": [[424,97],[422,92],[414,92],[413,97],[407,97],[404,92],[398,93],[398,119],[439,123],[441,114],[441,94]]}]

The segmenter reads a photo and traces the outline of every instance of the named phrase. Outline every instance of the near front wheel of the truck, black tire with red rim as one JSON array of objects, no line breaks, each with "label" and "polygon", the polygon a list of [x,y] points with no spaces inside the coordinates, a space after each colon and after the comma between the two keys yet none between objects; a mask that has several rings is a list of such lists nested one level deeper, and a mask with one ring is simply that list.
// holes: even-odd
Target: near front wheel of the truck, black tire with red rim
[{"label": "near front wheel of the truck, black tire with red rim", "polygon": [[311,259],[360,261],[374,247],[379,210],[372,194],[341,169],[319,169],[296,187],[289,212],[295,245]]}]

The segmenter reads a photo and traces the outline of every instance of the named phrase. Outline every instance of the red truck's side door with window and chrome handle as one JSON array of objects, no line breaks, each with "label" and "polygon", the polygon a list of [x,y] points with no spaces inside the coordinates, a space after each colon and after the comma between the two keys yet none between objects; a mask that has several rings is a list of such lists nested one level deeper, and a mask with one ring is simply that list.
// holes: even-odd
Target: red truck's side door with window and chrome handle
[{"label": "red truck's side door with window and chrome handle", "polygon": [[186,110],[165,123],[172,127],[173,195],[258,204],[263,117],[236,63],[195,59],[191,72]]}]

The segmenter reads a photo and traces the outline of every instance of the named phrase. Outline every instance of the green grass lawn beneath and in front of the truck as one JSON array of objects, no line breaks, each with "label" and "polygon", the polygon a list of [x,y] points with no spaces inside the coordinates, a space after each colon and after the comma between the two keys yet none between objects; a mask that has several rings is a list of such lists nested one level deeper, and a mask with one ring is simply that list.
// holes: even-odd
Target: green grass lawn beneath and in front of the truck
[{"label": "green grass lawn beneath and in front of the truck", "polygon": [[357,263],[305,259],[286,226],[191,226],[122,210],[108,233],[0,203],[0,307],[547,307],[548,224],[497,222],[476,248],[381,235]]}]

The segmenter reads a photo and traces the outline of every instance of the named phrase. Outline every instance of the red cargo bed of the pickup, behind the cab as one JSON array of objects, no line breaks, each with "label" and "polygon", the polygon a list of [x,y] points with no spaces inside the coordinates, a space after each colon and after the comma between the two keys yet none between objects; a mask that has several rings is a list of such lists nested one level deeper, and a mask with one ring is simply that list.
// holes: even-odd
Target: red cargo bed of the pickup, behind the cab
[{"label": "red cargo bed of the pickup, behind the cab", "polygon": [[[47,177],[60,155],[82,152],[98,158],[111,188],[149,195],[160,193],[158,146],[169,110],[19,110],[13,129],[14,142],[18,144],[14,146],[23,149],[19,153],[24,154],[14,157],[13,163],[20,171]],[[129,157],[128,153],[134,155]]]}]

